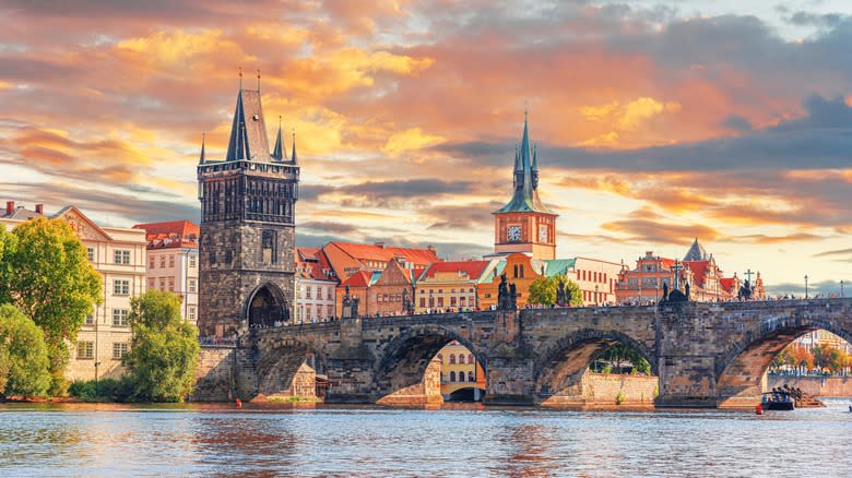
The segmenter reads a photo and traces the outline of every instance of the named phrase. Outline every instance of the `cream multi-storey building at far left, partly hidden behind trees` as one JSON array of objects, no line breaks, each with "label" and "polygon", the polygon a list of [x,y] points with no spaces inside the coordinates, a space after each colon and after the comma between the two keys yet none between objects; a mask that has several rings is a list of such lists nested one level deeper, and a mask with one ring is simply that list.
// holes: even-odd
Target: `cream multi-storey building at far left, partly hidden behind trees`
[{"label": "cream multi-storey building at far left, partly hidden behind trees", "polygon": [[[12,229],[19,224],[44,215],[44,207],[35,211],[7,203],[0,223]],[[140,229],[98,226],[74,206],[67,206],[47,216],[62,218],[74,229],[88,251],[88,260],[104,279],[103,302],[86,316],[70,346],[71,357],[67,375],[71,381],[97,377],[115,378],[122,373],[121,358],[130,347],[130,298],[145,291],[145,258],[147,241]]]}]

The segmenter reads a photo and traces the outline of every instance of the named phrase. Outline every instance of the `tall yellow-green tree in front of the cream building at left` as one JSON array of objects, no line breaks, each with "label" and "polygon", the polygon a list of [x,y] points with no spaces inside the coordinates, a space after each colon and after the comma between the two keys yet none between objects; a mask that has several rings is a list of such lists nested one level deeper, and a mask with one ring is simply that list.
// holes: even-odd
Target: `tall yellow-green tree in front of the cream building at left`
[{"label": "tall yellow-green tree in front of the cream building at left", "polygon": [[[11,236],[11,238],[10,238]],[[64,392],[64,366],[93,306],[100,302],[100,274],[71,226],[62,219],[38,217],[3,234],[0,303],[10,302],[38,325],[54,375],[51,394]]]}]

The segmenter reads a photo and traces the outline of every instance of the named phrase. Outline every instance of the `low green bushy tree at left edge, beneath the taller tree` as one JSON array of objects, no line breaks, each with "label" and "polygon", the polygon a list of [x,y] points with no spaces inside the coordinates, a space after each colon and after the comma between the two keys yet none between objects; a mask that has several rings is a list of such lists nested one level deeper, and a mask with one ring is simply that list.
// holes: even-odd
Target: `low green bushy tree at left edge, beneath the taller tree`
[{"label": "low green bushy tree at left edge, beneath the taller tree", "polygon": [[47,394],[48,366],[42,330],[13,306],[0,306],[0,396]]}]

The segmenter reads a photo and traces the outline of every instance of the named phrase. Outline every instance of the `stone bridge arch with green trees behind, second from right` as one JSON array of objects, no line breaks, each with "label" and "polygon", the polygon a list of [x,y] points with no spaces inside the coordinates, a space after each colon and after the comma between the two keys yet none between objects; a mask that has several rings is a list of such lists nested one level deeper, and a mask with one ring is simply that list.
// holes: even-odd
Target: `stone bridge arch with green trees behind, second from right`
[{"label": "stone bridge arch with green trees behind, second from right", "polygon": [[580,401],[589,366],[619,343],[637,350],[650,363],[651,373],[658,374],[656,357],[643,343],[614,330],[583,328],[559,338],[539,356],[533,367],[536,402],[567,405]]}]

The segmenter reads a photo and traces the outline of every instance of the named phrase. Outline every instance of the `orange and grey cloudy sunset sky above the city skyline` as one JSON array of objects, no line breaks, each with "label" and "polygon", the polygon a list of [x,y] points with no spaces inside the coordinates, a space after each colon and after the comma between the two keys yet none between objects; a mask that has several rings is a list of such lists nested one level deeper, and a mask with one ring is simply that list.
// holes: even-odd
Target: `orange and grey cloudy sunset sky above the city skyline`
[{"label": "orange and grey cloudy sunset sky above the city skyline", "polygon": [[838,292],[849,45],[840,0],[2,0],[0,200],[198,222],[201,136],[224,157],[241,67],[270,144],[295,129],[300,246],[492,251],[526,110],[558,256],[697,237],[726,275]]}]

